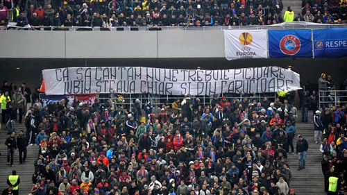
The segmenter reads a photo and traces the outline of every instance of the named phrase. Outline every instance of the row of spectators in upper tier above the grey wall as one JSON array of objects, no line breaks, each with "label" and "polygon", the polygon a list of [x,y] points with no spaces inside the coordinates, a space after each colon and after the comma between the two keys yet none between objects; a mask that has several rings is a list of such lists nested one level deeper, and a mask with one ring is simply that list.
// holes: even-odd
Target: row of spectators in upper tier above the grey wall
[{"label": "row of spectators in upper tier above the grey wall", "polygon": [[0,24],[10,18],[17,26],[269,25],[283,22],[282,7],[281,0],[10,0],[0,3]]}]

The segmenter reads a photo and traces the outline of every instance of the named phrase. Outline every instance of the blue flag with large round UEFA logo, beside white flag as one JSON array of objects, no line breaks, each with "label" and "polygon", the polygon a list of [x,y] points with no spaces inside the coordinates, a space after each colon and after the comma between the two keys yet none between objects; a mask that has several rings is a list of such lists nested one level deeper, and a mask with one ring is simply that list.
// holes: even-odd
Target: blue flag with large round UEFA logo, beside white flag
[{"label": "blue flag with large round UEFA logo, beside white flag", "polygon": [[270,58],[312,58],[311,30],[269,30]]}]

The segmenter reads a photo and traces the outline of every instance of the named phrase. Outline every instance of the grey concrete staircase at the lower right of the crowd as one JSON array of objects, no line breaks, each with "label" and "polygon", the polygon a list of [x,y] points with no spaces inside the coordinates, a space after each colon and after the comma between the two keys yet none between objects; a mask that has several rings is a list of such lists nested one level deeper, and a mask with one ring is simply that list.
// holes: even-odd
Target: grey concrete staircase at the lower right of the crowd
[{"label": "grey concrete staircase at the lower right of the crowd", "polygon": [[[319,144],[314,143],[313,113],[309,110],[309,121],[307,124],[296,123],[296,136],[303,135],[307,139],[309,149],[307,152],[306,169],[298,171],[298,155],[288,154],[288,162],[293,178],[291,179],[291,188],[295,189],[296,195],[324,195],[324,178],[321,171],[321,152]],[[301,116],[298,117],[301,121]],[[296,147],[297,138],[294,137],[294,147]]]}]

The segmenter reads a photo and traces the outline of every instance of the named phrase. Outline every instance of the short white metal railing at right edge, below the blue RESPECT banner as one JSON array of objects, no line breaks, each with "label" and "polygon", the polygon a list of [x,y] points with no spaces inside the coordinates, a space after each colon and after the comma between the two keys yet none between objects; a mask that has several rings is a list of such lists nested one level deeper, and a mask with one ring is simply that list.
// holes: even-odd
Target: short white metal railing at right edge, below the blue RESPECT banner
[{"label": "short white metal railing at right edge, below the blue RESPECT banner", "polygon": [[347,103],[347,90],[319,91],[319,108]]}]

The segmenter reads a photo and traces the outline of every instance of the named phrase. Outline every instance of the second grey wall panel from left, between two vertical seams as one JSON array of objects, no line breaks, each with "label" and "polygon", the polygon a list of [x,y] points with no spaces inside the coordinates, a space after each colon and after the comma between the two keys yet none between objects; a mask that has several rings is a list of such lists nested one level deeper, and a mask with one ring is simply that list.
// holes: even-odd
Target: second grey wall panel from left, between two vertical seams
[{"label": "second grey wall panel from left, between two vertical seams", "polygon": [[157,58],[155,31],[66,31],[66,58]]}]

